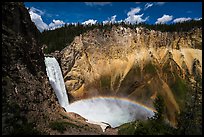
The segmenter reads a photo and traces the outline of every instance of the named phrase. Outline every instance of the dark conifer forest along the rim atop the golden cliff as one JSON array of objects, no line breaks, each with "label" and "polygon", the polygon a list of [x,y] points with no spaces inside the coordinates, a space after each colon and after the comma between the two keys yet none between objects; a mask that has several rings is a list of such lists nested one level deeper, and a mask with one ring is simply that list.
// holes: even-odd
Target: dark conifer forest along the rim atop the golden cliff
[{"label": "dark conifer forest along the rim atop the golden cliff", "polygon": [[[189,31],[193,28],[202,27],[202,19],[199,21],[191,20],[182,23],[175,23],[175,24],[126,24],[124,22],[115,23],[115,24],[102,24],[96,23],[94,25],[65,25],[64,27],[55,29],[55,30],[45,30],[42,32],[40,36],[41,44],[46,44],[47,49],[45,49],[45,53],[51,53],[55,50],[61,51],[63,48],[68,46],[73,40],[75,36],[79,36],[82,33],[85,33],[89,30],[99,29],[100,31],[110,31],[113,26],[123,26],[125,28],[133,28],[136,27],[145,27],[147,29],[153,29],[157,31],[165,31],[165,32],[182,32],[182,31]],[[202,46],[201,46],[202,47]]]}]

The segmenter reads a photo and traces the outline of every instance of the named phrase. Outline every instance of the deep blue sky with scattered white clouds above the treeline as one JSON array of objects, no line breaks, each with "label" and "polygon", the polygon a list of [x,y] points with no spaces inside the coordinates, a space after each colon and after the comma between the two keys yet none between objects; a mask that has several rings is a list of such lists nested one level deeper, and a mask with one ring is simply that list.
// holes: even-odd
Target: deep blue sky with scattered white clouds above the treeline
[{"label": "deep blue sky with scattered white clouds above the treeline", "polygon": [[64,24],[171,24],[202,18],[202,2],[24,2],[40,31]]}]

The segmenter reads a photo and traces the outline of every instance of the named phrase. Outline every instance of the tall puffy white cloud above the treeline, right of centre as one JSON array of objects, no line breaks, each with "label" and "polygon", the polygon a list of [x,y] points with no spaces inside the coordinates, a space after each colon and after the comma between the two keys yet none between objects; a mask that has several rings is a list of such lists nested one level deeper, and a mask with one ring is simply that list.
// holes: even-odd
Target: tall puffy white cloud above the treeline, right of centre
[{"label": "tall puffy white cloud above the treeline, right of centre", "polygon": [[145,22],[149,17],[146,17],[145,19],[142,19],[143,14],[136,15],[136,13],[140,12],[140,8],[132,8],[128,13],[127,13],[127,18],[124,20],[126,23],[131,23],[131,24],[138,24],[141,22]]}]

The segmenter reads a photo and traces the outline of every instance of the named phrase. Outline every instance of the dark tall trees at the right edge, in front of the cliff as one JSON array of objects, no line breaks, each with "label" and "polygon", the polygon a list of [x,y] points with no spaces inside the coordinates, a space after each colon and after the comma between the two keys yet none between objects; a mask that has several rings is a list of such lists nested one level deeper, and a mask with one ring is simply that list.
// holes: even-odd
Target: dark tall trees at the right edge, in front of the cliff
[{"label": "dark tall trees at the right edge, in front of the cliff", "polygon": [[178,116],[177,134],[202,134],[202,78],[195,76],[196,83],[186,93],[185,107]]}]

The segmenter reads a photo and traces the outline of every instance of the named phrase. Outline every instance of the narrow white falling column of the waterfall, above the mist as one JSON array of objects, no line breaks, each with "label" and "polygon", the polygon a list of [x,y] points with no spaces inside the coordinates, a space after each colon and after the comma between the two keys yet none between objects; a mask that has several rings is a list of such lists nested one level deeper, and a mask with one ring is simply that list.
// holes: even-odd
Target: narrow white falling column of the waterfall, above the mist
[{"label": "narrow white falling column of the waterfall, above the mist", "polygon": [[58,98],[59,104],[68,112],[69,100],[59,63],[54,57],[45,57],[45,66],[47,76]]}]

